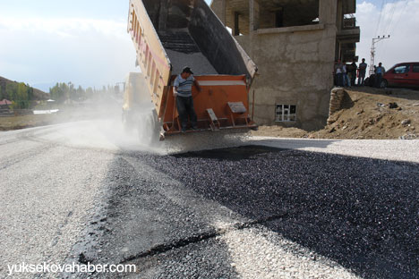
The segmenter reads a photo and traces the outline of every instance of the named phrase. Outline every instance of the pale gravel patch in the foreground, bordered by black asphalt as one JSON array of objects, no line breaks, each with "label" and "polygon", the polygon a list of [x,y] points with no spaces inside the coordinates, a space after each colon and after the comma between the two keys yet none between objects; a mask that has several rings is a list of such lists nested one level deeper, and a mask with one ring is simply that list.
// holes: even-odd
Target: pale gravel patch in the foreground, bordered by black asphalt
[{"label": "pale gravel patch in the foreground, bordered by black asphalt", "polygon": [[218,240],[227,244],[230,265],[240,278],[360,278],[262,226],[231,231]]}]

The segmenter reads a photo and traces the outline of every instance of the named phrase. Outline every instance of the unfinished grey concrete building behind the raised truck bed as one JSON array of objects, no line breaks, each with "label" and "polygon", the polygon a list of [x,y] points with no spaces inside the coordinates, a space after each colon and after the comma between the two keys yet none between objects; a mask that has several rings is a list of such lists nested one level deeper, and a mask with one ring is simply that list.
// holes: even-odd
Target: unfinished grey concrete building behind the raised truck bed
[{"label": "unfinished grey concrete building behind the raised truck bed", "polygon": [[357,59],[355,0],[212,0],[211,8],[258,65],[255,121],[324,126],[334,62]]}]

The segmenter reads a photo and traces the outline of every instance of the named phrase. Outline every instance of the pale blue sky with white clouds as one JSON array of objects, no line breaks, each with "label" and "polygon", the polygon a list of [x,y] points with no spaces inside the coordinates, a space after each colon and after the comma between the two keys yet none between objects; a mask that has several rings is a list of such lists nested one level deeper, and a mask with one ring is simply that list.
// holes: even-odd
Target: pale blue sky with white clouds
[{"label": "pale blue sky with white clouds", "polygon": [[[206,0],[207,3],[210,0]],[[56,82],[102,87],[124,81],[135,68],[126,32],[128,0],[0,0],[0,76],[48,91]],[[419,0],[357,0],[361,42],[370,63],[419,61]]]}]

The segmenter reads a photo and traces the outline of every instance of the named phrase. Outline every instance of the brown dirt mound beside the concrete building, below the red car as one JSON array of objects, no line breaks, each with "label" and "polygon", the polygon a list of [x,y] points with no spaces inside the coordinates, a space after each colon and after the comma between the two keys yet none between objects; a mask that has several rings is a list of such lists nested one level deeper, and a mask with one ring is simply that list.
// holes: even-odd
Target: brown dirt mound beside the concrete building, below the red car
[{"label": "brown dirt mound beside the concrete building, below the red car", "polygon": [[[344,108],[320,131],[261,126],[254,136],[309,139],[419,139],[419,91],[346,89]],[[416,127],[418,130],[416,130]]]}]

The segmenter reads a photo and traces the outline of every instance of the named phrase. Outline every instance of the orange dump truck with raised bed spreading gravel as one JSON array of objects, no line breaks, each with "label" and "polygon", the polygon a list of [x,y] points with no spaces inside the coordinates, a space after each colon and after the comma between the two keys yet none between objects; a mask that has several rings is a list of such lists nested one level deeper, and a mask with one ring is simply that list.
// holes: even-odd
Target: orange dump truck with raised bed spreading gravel
[{"label": "orange dump truck with raised bed spreading gravel", "polygon": [[185,66],[201,87],[192,87],[198,129],[191,132],[257,127],[249,113],[257,67],[204,0],[131,0],[127,31],[141,67],[125,82],[128,127],[150,127],[141,130],[148,141],[181,132],[173,82]]}]

